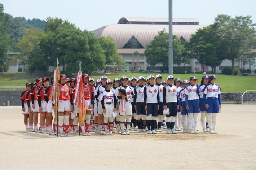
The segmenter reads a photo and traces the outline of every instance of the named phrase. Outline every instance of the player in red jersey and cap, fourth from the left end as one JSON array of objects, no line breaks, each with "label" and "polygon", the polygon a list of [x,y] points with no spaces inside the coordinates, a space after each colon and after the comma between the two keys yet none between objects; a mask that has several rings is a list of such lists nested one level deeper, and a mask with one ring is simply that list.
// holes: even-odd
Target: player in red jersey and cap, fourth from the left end
[{"label": "player in red jersey and cap, fourth from the left end", "polygon": [[47,112],[47,102],[44,99],[44,94],[45,94],[45,89],[49,85],[49,78],[44,77],[42,80],[43,86],[40,87],[37,93],[38,97],[38,105],[39,105],[39,113],[40,113],[40,127],[39,130],[42,134],[46,134],[47,132],[45,131],[45,124],[48,125],[48,116],[46,115]]}]

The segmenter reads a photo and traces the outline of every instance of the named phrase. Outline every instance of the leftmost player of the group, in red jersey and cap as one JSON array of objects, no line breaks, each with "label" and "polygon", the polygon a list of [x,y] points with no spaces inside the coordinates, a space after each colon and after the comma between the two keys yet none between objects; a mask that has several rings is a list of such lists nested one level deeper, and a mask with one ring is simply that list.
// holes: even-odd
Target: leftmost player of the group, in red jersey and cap
[{"label": "leftmost player of the group, in red jersey and cap", "polygon": [[31,89],[31,83],[26,83],[26,90],[22,92],[20,99],[22,100],[22,114],[24,115],[24,124],[26,127],[26,131],[30,131],[28,128],[28,120],[29,120],[29,113],[28,113],[28,106],[27,106],[27,100],[26,100],[26,94]]}]

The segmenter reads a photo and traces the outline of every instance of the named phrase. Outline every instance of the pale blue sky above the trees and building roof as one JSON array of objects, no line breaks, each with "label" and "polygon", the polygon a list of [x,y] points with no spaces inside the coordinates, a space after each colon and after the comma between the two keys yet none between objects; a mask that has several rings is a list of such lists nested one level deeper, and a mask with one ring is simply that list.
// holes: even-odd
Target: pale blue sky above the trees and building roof
[{"label": "pale blue sky above the trees and building roof", "polygon": [[[168,0],[0,0],[4,13],[26,19],[58,17],[93,31],[122,17],[168,18]],[[252,16],[256,0],[172,0],[172,18],[196,18],[209,25],[219,14]]]}]

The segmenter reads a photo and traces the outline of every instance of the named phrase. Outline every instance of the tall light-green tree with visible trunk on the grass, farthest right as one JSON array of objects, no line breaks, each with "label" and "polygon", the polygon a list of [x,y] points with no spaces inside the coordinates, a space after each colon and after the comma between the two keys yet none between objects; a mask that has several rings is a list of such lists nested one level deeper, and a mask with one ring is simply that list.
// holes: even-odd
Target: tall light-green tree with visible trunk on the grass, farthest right
[{"label": "tall light-green tree with visible trunk on the grass, farthest right", "polygon": [[251,16],[218,15],[214,22],[218,28],[221,44],[225,46],[225,57],[232,63],[232,75],[234,65],[242,60],[242,55],[252,52],[256,45],[256,24],[252,23]]}]

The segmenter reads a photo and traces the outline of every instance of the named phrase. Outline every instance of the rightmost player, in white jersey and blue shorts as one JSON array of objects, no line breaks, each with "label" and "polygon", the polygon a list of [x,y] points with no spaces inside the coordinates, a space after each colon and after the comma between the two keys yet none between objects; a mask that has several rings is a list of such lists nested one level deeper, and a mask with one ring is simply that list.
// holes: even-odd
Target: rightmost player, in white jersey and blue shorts
[{"label": "rightmost player, in white jersey and blue shorts", "polygon": [[208,114],[208,123],[210,128],[210,133],[218,133],[216,131],[217,113],[219,113],[219,108],[221,108],[221,88],[219,85],[215,84],[215,75],[209,75],[209,83],[204,87],[203,99],[205,108]]}]

